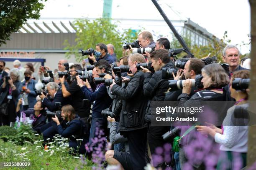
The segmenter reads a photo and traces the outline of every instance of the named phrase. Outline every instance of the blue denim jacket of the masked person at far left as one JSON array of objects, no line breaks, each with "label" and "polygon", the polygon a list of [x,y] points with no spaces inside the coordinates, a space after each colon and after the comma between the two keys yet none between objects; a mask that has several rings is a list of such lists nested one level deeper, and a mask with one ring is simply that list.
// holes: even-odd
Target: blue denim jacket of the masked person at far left
[{"label": "blue denim jacket of the masked person at far left", "polygon": [[[27,89],[30,90],[30,93],[28,94],[28,108],[33,108],[36,104],[36,88],[35,88],[36,81],[34,79],[31,79],[28,82]],[[22,82],[22,87],[26,86],[26,80]],[[22,88],[20,89],[20,91]]]}]

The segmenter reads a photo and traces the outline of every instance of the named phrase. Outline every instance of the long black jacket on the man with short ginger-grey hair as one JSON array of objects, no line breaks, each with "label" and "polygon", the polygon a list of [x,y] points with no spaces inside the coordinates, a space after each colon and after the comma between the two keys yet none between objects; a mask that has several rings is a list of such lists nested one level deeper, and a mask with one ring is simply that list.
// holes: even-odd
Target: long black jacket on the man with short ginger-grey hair
[{"label": "long black jacket on the man with short ginger-grey hair", "polygon": [[125,88],[113,85],[112,95],[118,95],[123,100],[120,113],[119,130],[122,132],[146,128],[144,121],[146,109],[146,97],[143,95],[144,73],[139,70],[128,82]]}]

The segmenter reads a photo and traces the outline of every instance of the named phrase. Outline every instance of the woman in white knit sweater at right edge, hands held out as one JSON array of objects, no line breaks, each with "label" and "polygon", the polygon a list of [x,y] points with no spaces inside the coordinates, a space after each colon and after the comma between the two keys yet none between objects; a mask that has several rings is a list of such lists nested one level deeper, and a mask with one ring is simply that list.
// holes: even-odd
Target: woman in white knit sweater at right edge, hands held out
[{"label": "woman in white knit sweater at right edge, hands held out", "polygon": [[[222,128],[217,128],[214,125],[210,126],[196,126],[197,131],[203,134],[208,134],[214,138],[216,143],[220,144],[221,155],[218,160],[217,170],[229,170],[234,167],[237,162],[237,158],[241,159],[241,167],[246,166],[246,153],[248,150],[248,126],[244,125],[243,112],[248,108],[248,93],[246,89],[236,90],[232,87],[232,82],[235,78],[248,79],[250,72],[248,70],[235,71],[230,80],[230,93],[231,97],[236,99],[236,103],[233,107],[230,107],[227,111],[227,115],[223,120]],[[241,108],[241,110],[239,109]],[[241,117],[236,117],[236,110]],[[235,120],[235,121],[234,121]],[[236,121],[237,120],[237,121]],[[242,120],[242,124],[239,122]],[[237,154],[237,158],[230,156]],[[228,165],[226,163],[228,162]],[[225,165],[223,165],[225,164]],[[225,167],[225,168],[224,168]]]}]

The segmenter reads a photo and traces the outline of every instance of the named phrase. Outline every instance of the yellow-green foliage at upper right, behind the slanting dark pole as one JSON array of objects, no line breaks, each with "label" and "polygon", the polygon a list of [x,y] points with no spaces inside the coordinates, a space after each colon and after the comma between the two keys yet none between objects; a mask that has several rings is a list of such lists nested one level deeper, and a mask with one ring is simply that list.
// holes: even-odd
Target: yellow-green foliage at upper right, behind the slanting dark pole
[{"label": "yellow-green foliage at upper right, behind the slanting dark pole", "polygon": [[[197,58],[206,57],[211,53],[210,57],[216,56],[218,57],[218,62],[222,61],[222,52],[224,47],[227,45],[227,43],[230,43],[230,40],[227,40],[228,35],[227,31],[224,32],[223,38],[218,40],[215,35],[212,36],[212,41],[208,45],[192,45],[191,40],[189,37],[182,36],[184,41],[186,42],[187,46],[189,47],[189,50],[192,52],[192,54]],[[172,42],[171,42],[171,48],[181,48],[179,41],[176,39],[176,37],[172,36]],[[184,56],[184,53],[181,53],[178,55],[178,57]]]}]

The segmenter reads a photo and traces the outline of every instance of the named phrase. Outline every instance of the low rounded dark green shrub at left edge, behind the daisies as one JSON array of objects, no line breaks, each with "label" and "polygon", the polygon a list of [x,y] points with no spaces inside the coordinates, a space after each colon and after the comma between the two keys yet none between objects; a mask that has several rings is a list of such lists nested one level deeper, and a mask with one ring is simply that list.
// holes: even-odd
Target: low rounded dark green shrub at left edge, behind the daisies
[{"label": "low rounded dark green shrub at left edge, behind the daisies", "polygon": [[24,145],[25,142],[33,143],[38,138],[29,125],[21,124],[18,130],[8,126],[0,127],[0,139],[13,141],[17,145]]}]

